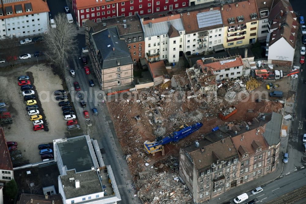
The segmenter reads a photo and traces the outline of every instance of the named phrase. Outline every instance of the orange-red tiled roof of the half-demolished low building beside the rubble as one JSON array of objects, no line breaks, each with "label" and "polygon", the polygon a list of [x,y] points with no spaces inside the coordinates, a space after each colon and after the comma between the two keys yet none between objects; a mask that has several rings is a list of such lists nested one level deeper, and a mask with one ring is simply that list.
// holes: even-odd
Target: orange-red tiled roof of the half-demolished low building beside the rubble
[{"label": "orange-red tiled roof of the half-demolished low building beside the rubble", "polygon": [[[228,69],[231,67],[236,67],[236,66],[243,66],[243,62],[241,59],[241,56],[232,58],[232,59],[213,59],[213,61],[216,62],[211,62],[211,63],[205,63],[204,61],[204,66],[207,67],[208,69],[213,69],[214,71],[216,70],[223,70],[223,69]],[[202,70],[204,70],[204,67],[202,66]]]}]

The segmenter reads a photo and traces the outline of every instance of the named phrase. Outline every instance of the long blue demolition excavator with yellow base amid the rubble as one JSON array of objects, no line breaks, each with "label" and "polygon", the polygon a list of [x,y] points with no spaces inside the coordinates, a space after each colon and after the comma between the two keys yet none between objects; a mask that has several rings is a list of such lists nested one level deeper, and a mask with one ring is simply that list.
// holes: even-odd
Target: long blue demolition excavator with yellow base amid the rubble
[{"label": "long blue demolition excavator with yellow base amid the rubble", "polygon": [[153,154],[163,150],[163,145],[169,144],[171,142],[178,142],[181,139],[192,134],[196,130],[199,130],[203,126],[203,123],[195,123],[192,126],[187,124],[182,125],[174,132],[170,133],[164,138],[157,138],[154,142],[144,142],[144,150],[148,154]]}]

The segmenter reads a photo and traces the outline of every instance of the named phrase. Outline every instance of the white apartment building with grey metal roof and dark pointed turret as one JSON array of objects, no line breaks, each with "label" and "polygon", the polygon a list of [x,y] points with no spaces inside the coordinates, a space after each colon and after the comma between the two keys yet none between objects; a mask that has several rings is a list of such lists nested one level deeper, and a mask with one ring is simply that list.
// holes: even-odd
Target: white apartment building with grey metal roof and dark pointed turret
[{"label": "white apartment building with grey metal roof and dark pointed turret", "polygon": [[184,50],[185,29],[181,15],[175,12],[141,19],[144,30],[145,57],[148,62],[168,59],[178,62]]}]

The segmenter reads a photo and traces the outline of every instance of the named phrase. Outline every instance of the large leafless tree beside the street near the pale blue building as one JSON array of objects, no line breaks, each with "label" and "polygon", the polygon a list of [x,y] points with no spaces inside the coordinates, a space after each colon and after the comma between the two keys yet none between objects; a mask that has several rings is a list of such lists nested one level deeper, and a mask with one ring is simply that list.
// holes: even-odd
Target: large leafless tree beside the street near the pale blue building
[{"label": "large leafless tree beside the street near the pale blue building", "polygon": [[46,55],[56,66],[62,67],[65,59],[76,54],[76,30],[67,20],[65,13],[54,17],[56,28],[50,28],[45,35]]}]

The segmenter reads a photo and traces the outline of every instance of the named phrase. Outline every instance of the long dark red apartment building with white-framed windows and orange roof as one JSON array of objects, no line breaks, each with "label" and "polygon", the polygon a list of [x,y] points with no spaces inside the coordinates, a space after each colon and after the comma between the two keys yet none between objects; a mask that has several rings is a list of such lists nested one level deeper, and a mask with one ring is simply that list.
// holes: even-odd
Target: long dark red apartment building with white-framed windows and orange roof
[{"label": "long dark red apartment building with white-framed windows and orange roof", "polygon": [[86,20],[100,22],[106,18],[152,14],[186,6],[188,0],[72,0],[73,12],[80,27]]}]

